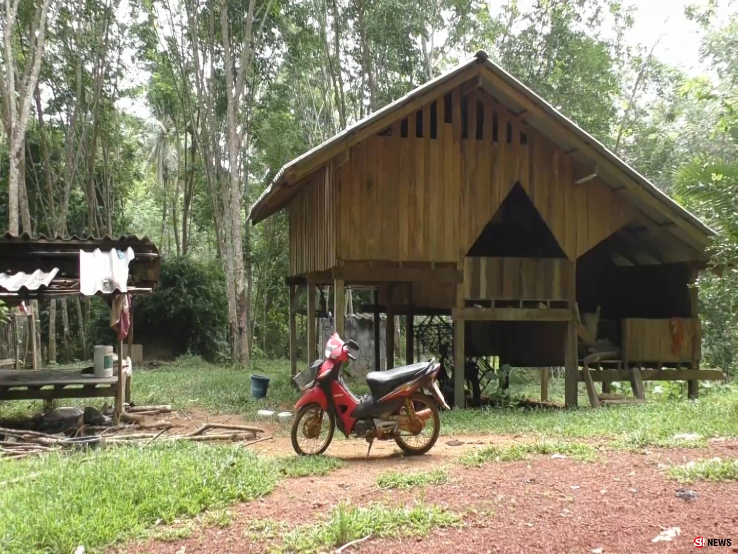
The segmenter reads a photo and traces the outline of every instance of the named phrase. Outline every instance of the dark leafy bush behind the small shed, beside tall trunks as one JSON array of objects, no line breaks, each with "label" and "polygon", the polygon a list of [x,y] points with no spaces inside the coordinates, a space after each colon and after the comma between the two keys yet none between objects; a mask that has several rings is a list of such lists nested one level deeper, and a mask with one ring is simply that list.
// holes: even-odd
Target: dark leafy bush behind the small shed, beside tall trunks
[{"label": "dark leafy bush behind the small shed, beside tall trunks", "polygon": [[[95,303],[94,315],[91,337],[109,343],[104,301]],[[163,258],[154,293],[134,298],[134,338],[144,352],[170,359],[189,352],[223,361],[230,355],[228,335],[225,276],[217,261]]]}]

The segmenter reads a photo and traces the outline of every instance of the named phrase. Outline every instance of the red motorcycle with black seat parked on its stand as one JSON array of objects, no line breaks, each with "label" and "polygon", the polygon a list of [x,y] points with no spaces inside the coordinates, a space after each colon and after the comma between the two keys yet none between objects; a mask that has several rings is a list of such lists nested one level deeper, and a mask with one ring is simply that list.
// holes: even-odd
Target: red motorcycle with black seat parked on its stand
[{"label": "red motorcycle with black seat parked on its stand", "polygon": [[325,360],[316,360],[294,377],[303,391],[294,406],[294,451],[302,456],[323,454],[337,425],[347,438],[354,434],[369,442],[367,458],[375,439],[394,440],[407,454],[425,454],[433,448],[441,431],[438,406],[450,409],[435,384],[441,364],[430,360],[370,372],[366,377],[370,394],[358,398],[341,376],[343,364],[356,360],[350,350],[358,351],[359,345],[344,343],[334,333],[325,345]]}]

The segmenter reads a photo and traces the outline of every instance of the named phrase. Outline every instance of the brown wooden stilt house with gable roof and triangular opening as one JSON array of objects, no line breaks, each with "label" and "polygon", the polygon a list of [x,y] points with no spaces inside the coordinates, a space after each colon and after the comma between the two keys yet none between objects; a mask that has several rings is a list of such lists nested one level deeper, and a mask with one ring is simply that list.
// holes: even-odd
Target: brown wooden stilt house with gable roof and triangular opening
[{"label": "brown wooden stilt house with gable roof and triangular opening", "polygon": [[[375,312],[452,318],[456,406],[472,356],[565,367],[568,406],[582,380],[594,404],[595,381],[694,396],[719,377],[699,369],[690,286],[714,233],[485,52],[292,160],[249,218],[282,208],[293,372],[300,287],[311,361],[314,287],[334,287],[342,332],[344,287],[364,286]],[[412,323],[407,338],[411,358]]]}]

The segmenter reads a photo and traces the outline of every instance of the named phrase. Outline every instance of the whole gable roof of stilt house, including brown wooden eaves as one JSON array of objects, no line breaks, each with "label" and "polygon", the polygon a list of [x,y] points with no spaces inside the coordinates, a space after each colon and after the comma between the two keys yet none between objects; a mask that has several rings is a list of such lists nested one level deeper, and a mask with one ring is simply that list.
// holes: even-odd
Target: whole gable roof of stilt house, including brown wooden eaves
[{"label": "whole gable roof of stilt house, including brown wooden eaves", "polygon": [[599,140],[490,61],[483,50],[463,64],[418,86],[407,95],[286,163],[252,205],[249,219],[254,224],[266,219],[283,208],[289,199],[297,194],[305,177],[328,163],[337,154],[381,131],[393,120],[405,117],[423,103],[438,98],[471,79],[475,80],[475,86],[493,95],[511,111],[515,110],[516,115],[520,115],[526,123],[546,134],[579,162],[592,167],[602,181],[615,189],[622,189],[636,207],[652,219],[657,218],[655,221],[658,225],[668,226],[681,239],[685,239],[698,250],[704,251],[711,244],[715,234],[713,230],[664,194]]}]

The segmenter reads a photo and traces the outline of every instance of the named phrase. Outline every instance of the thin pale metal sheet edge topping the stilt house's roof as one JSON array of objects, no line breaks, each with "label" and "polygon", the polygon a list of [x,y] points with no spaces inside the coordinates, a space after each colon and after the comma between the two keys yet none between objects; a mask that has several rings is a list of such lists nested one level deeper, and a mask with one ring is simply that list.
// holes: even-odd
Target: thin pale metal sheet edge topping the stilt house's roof
[{"label": "thin pale metal sheet edge topping the stilt house's roof", "polygon": [[[403,106],[405,103],[408,103],[414,98],[423,95],[429,89],[441,85],[442,83],[453,78],[458,73],[463,72],[464,69],[468,69],[475,64],[486,67],[487,69],[494,72],[495,75],[500,76],[500,78],[502,78],[503,81],[506,81],[508,85],[513,86],[515,89],[522,92],[523,95],[528,97],[528,100],[540,106],[553,120],[556,120],[556,122],[558,123],[562,123],[562,125],[565,126],[573,134],[575,134],[576,137],[579,138],[579,140],[582,140],[584,143],[591,146],[597,154],[606,158],[608,162],[615,165],[615,167],[618,168],[619,171],[622,171],[622,173],[625,174],[628,178],[632,179],[632,181],[644,188],[644,190],[648,194],[654,196],[655,199],[658,199],[665,207],[670,208],[675,216],[686,220],[691,225],[694,225],[694,227],[696,227],[698,230],[700,230],[701,233],[704,233],[706,236],[712,236],[715,234],[714,231],[708,228],[708,226],[701,222],[700,219],[687,211],[686,208],[683,208],[682,205],[675,202],[674,199],[664,194],[663,191],[659,190],[652,182],[646,179],[646,177],[639,174],[638,171],[635,171],[634,168],[621,160],[621,158],[610,151],[610,149],[604,146],[604,144],[602,144],[599,140],[597,140],[591,134],[587,133],[587,131],[584,131],[584,129],[579,127],[576,123],[574,123],[564,114],[559,112],[559,110],[554,108],[554,106],[551,106],[550,103],[540,97],[536,92],[528,88],[528,86],[525,86],[525,84],[518,81],[517,78],[514,78],[514,76],[510,73],[506,72],[505,69],[490,61],[488,55],[483,50],[477,52],[475,56],[469,58],[469,60],[463,62],[463,64],[456,66],[454,69],[449,70],[443,75],[440,75],[437,78],[432,79],[431,81],[428,81],[421,86],[418,86],[418,88],[408,92],[407,95],[404,95],[402,98],[395,100],[393,103],[387,104],[387,106],[384,106],[382,109],[377,110],[373,114],[370,114],[368,117],[357,121],[353,125],[344,129],[339,134],[336,134],[334,135],[334,137],[325,140],[325,142],[321,143],[315,148],[312,148],[300,157],[297,157],[289,163],[286,163],[280,169],[280,171],[277,172],[275,178],[272,179],[272,182],[263,191],[261,196],[259,196],[258,200],[254,202],[254,205],[252,205],[251,210],[249,211],[249,219],[251,219],[254,223],[257,222],[255,221],[255,216],[257,215],[256,212],[258,211],[258,208],[261,208],[263,202],[265,202],[269,196],[280,189],[280,187],[284,184],[281,182],[283,177],[288,174],[289,171],[294,170],[297,165],[299,165],[300,163],[309,164],[311,162],[311,159],[318,159],[318,154],[320,154],[320,152],[323,151],[325,148],[336,146],[337,144],[342,143],[342,141],[348,141],[351,138],[351,135],[356,134],[357,131],[364,129],[371,123],[374,123],[382,119],[382,117],[391,114],[396,109],[401,108],[401,106]],[[281,207],[282,205],[277,205],[272,212],[266,213],[266,215],[261,214],[258,221],[261,221],[261,219],[264,219],[264,217],[268,217],[269,215],[271,215],[271,213],[277,211]]]}]

